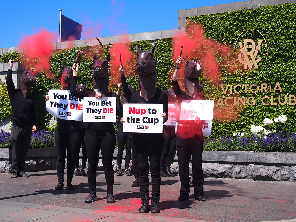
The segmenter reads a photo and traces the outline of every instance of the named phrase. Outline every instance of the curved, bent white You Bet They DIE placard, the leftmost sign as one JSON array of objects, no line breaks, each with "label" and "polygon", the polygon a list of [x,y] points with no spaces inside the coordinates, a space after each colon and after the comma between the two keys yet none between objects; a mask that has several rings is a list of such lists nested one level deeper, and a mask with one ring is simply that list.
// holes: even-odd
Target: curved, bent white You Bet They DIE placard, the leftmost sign
[{"label": "curved, bent white You Bet They DIE placard, the leftmost sign", "polygon": [[82,120],[83,99],[63,89],[50,89],[47,95],[46,109],[51,115],[64,120]]}]

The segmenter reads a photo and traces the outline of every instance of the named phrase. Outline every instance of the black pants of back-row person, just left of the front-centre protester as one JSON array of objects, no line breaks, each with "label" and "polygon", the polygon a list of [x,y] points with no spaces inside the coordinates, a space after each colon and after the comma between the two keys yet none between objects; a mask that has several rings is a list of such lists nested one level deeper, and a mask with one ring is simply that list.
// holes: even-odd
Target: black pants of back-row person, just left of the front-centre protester
[{"label": "black pants of back-row person, just left of the front-centre protester", "polygon": [[126,157],[124,159],[125,162],[125,169],[129,168],[129,163],[131,160],[131,142],[128,138],[127,132],[123,132],[122,127],[117,128],[117,145],[118,145],[118,151],[117,151],[117,169],[121,169],[121,163],[122,163],[122,154],[124,146],[126,146]]}]

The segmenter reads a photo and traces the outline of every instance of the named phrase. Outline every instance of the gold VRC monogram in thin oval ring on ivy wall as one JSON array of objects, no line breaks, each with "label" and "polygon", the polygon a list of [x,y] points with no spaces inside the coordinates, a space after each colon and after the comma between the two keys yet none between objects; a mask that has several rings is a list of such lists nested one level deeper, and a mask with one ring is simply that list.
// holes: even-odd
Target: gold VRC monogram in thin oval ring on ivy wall
[{"label": "gold VRC monogram in thin oval ring on ivy wall", "polygon": [[[254,39],[263,38],[265,45],[263,43],[263,40],[258,40],[258,44],[256,45],[256,42],[251,38],[241,39],[242,35],[243,36],[251,35]],[[259,32],[258,30],[247,30],[242,32],[237,38],[237,41],[234,46],[234,53],[235,53],[237,44],[239,45],[239,53],[237,56],[238,61],[236,61],[236,58],[235,58],[236,56],[234,56],[235,68],[237,69],[239,74],[244,78],[254,79],[256,76],[259,76],[261,74],[267,62],[266,40],[262,35],[262,33]],[[263,53],[262,47],[264,47],[264,55],[261,55]],[[258,64],[262,60],[262,56],[266,57],[266,59],[265,59],[265,63],[260,66]],[[242,72],[241,70],[248,70],[248,72]],[[258,70],[258,71],[254,71],[254,70]]]}]

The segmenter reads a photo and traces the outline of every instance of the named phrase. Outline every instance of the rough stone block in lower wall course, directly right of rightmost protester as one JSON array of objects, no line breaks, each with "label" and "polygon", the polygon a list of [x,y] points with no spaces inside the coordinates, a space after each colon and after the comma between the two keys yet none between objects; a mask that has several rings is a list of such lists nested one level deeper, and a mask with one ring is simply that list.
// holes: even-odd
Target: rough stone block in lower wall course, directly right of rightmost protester
[{"label": "rough stone block in lower wall course, directly right of rightmost protester", "polygon": [[205,177],[233,178],[233,165],[231,164],[204,163],[202,169]]}]

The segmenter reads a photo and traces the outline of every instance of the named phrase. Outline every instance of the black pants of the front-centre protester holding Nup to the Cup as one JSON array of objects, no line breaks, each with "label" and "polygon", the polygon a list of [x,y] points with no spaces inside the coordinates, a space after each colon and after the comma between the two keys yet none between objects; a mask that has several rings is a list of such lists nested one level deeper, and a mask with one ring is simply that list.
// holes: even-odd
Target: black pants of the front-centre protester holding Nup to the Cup
[{"label": "black pants of the front-centre protester holding Nup to the Cup", "polygon": [[138,154],[139,184],[141,197],[149,195],[149,164],[151,173],[151,194],[159,197],[160,194],[160,156],[163,151],[164,137],[162,133],[133,133],[133,144]]}]

